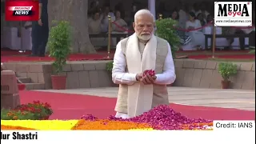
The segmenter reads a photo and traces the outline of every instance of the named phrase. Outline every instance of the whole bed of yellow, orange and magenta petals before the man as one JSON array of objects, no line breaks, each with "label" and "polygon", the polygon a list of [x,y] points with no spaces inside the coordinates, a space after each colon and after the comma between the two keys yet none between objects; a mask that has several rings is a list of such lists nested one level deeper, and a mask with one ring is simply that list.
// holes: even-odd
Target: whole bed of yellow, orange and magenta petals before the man
[{"label": "whole bed of yellow, orange and magenta petals before the man", "polygon": [[98,119],[91,114],[80,120],[1,120],[1,130],[212,130],[213,122],[186,118],[169,106],[157,106],[134,118]]}]

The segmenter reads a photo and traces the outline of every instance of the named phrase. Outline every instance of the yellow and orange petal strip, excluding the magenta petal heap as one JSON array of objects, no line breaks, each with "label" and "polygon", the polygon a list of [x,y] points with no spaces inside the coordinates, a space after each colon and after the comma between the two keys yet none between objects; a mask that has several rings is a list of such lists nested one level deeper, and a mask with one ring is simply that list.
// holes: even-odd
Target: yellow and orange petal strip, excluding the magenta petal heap
[{"label": "yellow and orange petal strip, excluding the magenta petal heap", "polygon": [[153,130],[146,124],[109,120],[1,120],[1,126],[3,130],[15,130],[15,127],[18,130],[22,127],[34,130]]}]

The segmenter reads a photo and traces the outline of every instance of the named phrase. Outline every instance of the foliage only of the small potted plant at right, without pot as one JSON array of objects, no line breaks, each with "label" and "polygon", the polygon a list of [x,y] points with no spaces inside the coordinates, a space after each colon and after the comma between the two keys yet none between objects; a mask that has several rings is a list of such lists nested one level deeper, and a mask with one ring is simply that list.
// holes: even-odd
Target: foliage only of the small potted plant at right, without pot
[{"label": "foliage only of the small potted plant at right, without pot", "polygon": [[228,81],[230,76],[238,73],[238,66],[232,62],[220,62],[218,64],[218,73],[222,75],[224,81]]}]

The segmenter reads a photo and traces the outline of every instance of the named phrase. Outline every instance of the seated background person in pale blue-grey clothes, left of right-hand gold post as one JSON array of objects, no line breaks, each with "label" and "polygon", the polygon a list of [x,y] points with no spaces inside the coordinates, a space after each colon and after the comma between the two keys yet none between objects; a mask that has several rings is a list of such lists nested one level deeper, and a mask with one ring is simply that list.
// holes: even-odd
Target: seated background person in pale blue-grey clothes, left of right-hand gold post
[{"label": "seated background person in pale blue-grey clothes, left of right-hand gold post", "polygon": [[186,22],[186,30],[190,30],[187,34],[191,38],[192,46],[196,47],[198,50],[202,49],[205,42],[205,36],[202,33],[202,30],[195,30],[201,28],[201,22],[196,19],[196,16],[193,12],[190,12],[190,20]]}]

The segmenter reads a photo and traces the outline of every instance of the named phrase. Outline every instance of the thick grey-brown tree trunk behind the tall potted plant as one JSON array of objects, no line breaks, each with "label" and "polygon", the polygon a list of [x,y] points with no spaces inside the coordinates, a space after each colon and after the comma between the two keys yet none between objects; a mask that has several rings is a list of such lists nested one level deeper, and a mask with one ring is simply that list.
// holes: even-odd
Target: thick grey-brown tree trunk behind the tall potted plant
[{"label": "thick grey-brown tree trunk behind the tall potted plant", "polygon": [[48,2],[49,22],[53,20],[70,22],[72,27],[72,53],[96,53],[88,33],[88,0],[50,0]]}]

